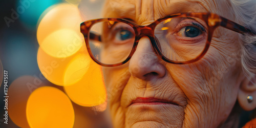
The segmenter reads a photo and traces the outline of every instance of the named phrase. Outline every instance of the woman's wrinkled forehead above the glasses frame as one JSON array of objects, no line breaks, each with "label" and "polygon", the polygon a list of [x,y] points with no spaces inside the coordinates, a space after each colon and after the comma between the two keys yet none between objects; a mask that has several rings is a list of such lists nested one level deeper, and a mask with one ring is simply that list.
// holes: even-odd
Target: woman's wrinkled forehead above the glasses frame
[{"label": "woman's wrinkled forehead above the glasses frame", "polygon": [[151,23],[170,14],[212,12],[225,15],[226,0],[107,0],[104,17],[130,18],[140,24]]}]

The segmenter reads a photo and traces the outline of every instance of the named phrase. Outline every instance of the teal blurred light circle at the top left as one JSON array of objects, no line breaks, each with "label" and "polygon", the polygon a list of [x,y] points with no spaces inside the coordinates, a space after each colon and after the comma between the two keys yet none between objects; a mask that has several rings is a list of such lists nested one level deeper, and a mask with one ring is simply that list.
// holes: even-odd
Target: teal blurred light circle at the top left
[{"label": "teal blurred light circle at the top left", "polygon": [[37,21],[48,7],[62,2],[61,0],[17,0],[16,12],[22,23],[30,28],[36,29]]}]

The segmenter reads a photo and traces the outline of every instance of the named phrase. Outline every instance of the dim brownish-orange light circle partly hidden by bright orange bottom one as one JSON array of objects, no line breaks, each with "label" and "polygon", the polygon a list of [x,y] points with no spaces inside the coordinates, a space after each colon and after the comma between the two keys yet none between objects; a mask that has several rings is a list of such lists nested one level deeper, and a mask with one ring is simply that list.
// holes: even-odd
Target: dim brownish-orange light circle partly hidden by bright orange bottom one
[{"label": "dim brownish-orange light circle partly hidden by bright orange bottom one", "polygon": [[[12,121],[20,127],[29,127],[26,118],[26,105],[29,95],[36,89],[46,86],[38,77],[21,76],[9,86],[8,113]],[[18,107],[17,107],[18,106]]]}]

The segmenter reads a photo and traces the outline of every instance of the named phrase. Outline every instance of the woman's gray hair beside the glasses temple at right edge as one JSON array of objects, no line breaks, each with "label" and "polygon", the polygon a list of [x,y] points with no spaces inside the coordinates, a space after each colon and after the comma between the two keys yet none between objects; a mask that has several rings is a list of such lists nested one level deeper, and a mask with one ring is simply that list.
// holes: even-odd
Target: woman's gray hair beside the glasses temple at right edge
[{"label": "woman's gray hair beside the glasses temple at right edge", "polygon": [[[256,31],[256,0],[230,0],[234,20]],[[256,35],[240,34],[241,62],[247,77],[256,75]]]}]

